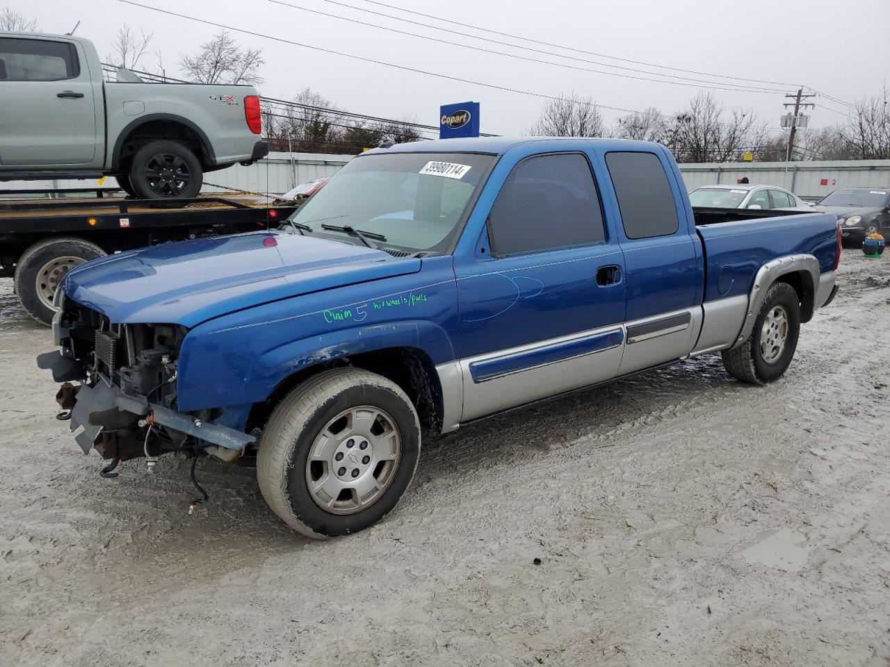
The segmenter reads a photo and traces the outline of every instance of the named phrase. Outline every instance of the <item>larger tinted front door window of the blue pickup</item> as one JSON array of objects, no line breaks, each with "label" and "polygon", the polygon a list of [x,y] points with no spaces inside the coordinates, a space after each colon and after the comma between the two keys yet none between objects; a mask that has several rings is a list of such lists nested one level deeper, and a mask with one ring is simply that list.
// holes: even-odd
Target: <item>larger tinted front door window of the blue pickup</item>
[{"label": "larger tinted front door window of the blue pickup", "polygon": [[529,157],[516,165],[489,216],[498,257],[605,241],[603,212],[587,158]]}]

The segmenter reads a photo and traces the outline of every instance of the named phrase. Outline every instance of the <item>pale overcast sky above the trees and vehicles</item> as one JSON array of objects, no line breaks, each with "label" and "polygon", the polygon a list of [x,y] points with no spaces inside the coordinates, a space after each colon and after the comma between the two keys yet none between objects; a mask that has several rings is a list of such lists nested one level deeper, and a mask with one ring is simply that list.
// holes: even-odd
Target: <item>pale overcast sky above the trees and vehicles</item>
[{"label": "pale overcast sky above the trees and vehicles", "polygon": [[[422,28],[400,20],[360,12],[353,5],[374,12],[434,24],[488,39],[521,44],[582,60],[637,68],[663,75],[687,76],[722,84],[755,85],[793,92],[797,84],[811,86],[840,100],[853,101],[877,94],[888,74],[890,0],[381,0],[386,4],[436,17],[489,28],[501,33],[559,44],[573,52],[509,37],[493,35],[453,23],[398,12],[368,0],[282,0],[306,9],[327,12],[368,23],[403,30],[399,35],[378,28],[292,9],[270,0],[136,0],[154,7],[212,20],[294,42],[320,46],[352,55],[382,60],[403,67],[455,76],[484,84],[544,95],[576,92],[602,105],[642,109],[656,106],[671,112],[698,92],[698,83],[676,85],[609,76],[578,69],[539,64],[503,55],[437,44],[413,35],[474,44],[493,51],[510,52],[538,60],[560,61],[580,68],[608,70],[632,76],[638,72],[556,58],[539,52],[509,48],[470,37]],[[175,76],[182,52],[195,51],[219,28],[192,20],[117,2],[117,0],[28,0],[3,2],[37,20],[44,32],[65,33],[80,20],[77,35],[89,37],[100,55],[124,23],[154,33],[152,45],[164,56],[167,74]],[[537,119],[546,100],[520,92],[495,90],[477,84],[409,72],[354,60],[341,55],[282,44],[263,37],[233,31],[241,44],[263,49],[262,74],[265,95],[290,98],[312,87],[340,108],[383,117],[416,117],[420,123],[438,125],[439,105],[476,100],[481,102],[483,133],[522,133]],[[591,52],[602,54],[591,55]],[[671,68],[739,76],[781,85],[744,82],[689,72],[659,70],[612,56]],[[149,56],[142,67],[154,69]],[[778,126],[782,92],[756,93],[715,90],[727,108],[751,108],[768,125]],[[831,125],[844,117],[822,106],[844,111],[832,100],[817,98],[812,124]],[[608,120],[619,112],[603,109]]]}]

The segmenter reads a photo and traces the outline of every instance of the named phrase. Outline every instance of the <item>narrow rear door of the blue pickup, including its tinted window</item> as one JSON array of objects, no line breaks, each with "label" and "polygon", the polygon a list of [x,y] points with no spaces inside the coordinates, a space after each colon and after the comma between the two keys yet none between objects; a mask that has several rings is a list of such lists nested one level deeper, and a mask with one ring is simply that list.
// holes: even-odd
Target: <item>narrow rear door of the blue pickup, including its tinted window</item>
[{"label": "narrow rear door of the blue pickup, including its tinted window", "polygon": [[606,150],[604,161],[627,267],[627,346],[619,370],[627,374],[692,350],[701,328],[702,253],[666,155]]}]

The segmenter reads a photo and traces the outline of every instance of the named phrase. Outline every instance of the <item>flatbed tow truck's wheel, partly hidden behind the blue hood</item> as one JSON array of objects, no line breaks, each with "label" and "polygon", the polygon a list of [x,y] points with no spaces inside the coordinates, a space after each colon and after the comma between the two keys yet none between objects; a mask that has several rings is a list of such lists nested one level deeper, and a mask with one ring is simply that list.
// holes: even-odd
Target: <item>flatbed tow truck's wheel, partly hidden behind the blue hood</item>
[{"label": "flatbed tow truck's wheel, partly hidden behind the blue hood", "polygon": [[53,294],[70,269],[104,257],[105,251],[83,238],[48,238],[21,253],[15,266],[15,293],[28,315],[53,323]]}]

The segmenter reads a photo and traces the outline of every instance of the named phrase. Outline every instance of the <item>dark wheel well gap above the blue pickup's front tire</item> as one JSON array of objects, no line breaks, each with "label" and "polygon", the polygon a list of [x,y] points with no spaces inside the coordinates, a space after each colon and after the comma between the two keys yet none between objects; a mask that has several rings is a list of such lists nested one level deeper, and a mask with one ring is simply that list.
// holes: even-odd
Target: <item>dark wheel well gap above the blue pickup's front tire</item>
[{"label": "dark wheel well gap above the blue pickup's front tire", "polygon": [[247,418],[247,432],[262,428],[272,410],[298,384],[329,368],[352,366],[383,375],[408,394],[417,409],[421,429],[439,433],[442,428],[442,391],[433,360],[417,348],[385,348],[301,368],[280,382],[263,403],[254,404]]}]

